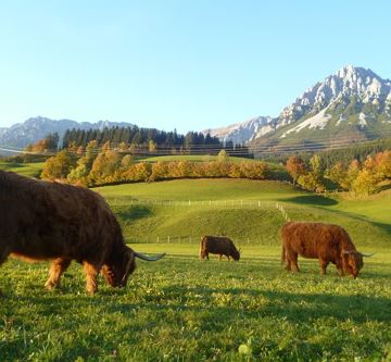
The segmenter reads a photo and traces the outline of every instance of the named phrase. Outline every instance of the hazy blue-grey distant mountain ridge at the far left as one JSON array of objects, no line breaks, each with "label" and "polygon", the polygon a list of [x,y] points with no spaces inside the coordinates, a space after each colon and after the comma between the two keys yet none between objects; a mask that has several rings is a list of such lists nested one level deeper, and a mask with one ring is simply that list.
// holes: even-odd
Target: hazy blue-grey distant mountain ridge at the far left
[{"label": "hazy blue-grey distant mountain ridge at the far left", "polygon": [[60,136],[60,145],[66,129],[100,129],[104,127],[133,127],[130,123],[115,123],[109,121],[99,121],[97,123],[81,122],[72,120],[51,120],[42,116],[30,117],[23,123],[17,123],[9,128],[0,128],[0,146],[24,148],[28,143],[34,143],[42,139],[50,133],[56,132]]}]

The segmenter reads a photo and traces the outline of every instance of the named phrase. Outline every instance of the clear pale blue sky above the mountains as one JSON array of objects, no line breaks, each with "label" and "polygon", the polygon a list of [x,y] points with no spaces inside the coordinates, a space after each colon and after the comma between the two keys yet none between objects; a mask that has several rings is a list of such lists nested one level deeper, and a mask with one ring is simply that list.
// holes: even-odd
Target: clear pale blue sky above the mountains
[{"label": "clear pale blue sky above the mountains", "polygon": [[2,0],[0,127],[276,116],[345,64],[391,78],[390,14],[388,0]]}]

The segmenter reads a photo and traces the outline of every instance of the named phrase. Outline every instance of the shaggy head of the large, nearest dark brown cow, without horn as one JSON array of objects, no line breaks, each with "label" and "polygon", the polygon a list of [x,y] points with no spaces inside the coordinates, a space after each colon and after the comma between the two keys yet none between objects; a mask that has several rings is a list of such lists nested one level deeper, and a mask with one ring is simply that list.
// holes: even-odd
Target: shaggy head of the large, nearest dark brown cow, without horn
[{"label": "shaggy head of the large, nearest dark brown cow, without horn", "polygon": [[103,265],[102,274],[112,287],[125,287],[129,275],[135,269],[135,253],[130,248],[126,247],[122,254],[117,254],[110,263]]}]

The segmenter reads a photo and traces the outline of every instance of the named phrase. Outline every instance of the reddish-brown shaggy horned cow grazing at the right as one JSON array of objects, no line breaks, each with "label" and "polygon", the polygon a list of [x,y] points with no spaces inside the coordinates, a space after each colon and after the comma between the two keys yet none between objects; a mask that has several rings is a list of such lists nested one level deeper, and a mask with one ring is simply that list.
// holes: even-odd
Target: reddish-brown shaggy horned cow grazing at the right
[{"label": "reddish-brown shaggy horned cow grazing at the right", "polygon": [[340,275],[357,277],[363,267],[363,254],[358,252],[348,233],[338,225],[289,222],[282,226],[282,255],[288,271],[299,272],[298,254],[318,259],[320,274],[326,274],[329,263],[337,266]]}]

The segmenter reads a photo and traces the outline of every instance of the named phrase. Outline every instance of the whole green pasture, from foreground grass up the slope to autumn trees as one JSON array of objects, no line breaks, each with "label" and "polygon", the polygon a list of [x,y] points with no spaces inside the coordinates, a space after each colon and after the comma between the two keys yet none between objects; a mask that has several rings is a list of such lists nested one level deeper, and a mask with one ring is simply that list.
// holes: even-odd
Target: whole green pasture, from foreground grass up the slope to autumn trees
[{"label": "whole green pasture, from foreground grass up the slope to autumn trees", "polygon": [[[126,289],[100,277],[84,290],[72,263],[47,291],[48,264],[0,269],[1,361],[390,361],[391,194],[316,196],[277,182],[184,179],[96,188],[137,251]],[[365,260],[357,279],[316,260],[280,265],[279,229],[291,220],[342,225]],[[239,262],[198,259],[201,235],[230,236]],[[169,236],[169,238],[167,238]]]}]

